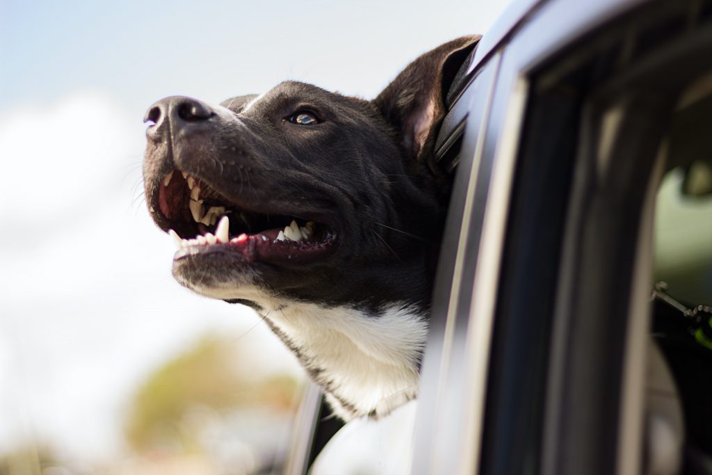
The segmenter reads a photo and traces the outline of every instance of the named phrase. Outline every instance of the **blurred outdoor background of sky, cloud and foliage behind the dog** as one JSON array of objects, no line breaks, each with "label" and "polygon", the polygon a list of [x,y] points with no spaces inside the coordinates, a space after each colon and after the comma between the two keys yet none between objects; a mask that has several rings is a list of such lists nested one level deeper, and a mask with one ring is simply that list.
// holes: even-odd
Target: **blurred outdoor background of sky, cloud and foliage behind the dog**
[{"label": "blurred outdoor background of sky, cloud and foliage behind the dog", "polygon": [[0,3],[0,474],[279,469],[303,373],[170,276],[142,117],[281,80],[373,98],[507,1]]}]

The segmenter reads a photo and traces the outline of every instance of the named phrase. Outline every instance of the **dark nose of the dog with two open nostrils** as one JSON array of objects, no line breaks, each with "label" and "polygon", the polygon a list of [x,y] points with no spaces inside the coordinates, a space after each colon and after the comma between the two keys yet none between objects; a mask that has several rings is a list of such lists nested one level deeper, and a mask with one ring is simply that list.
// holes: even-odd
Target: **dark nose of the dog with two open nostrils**
[{"label": "dark nose of the dog with two open nostrils", "polygon": [[171,129],[178,132],[199,122],[205,122],[213,115],[215,113],[210,106],[197,99],[172,96],[161,99],[148,108],[143,121],[153,122],[146,130],[146,135],[152,137],[165,128],[162,127],[165,122],[171,122]]}]

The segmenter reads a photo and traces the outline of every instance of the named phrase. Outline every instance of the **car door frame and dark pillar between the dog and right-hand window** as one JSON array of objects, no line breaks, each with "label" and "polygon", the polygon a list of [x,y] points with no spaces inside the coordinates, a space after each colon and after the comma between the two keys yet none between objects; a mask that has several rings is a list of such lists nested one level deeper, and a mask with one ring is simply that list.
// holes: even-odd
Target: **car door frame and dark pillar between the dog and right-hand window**
[{"label": "car door frame and dark pillar between the dog and right-hand window", "polygon": [[471,66],[497,73],[465,127],[413,473],[642,473],[656,187],[712,10],[520,6]]}]

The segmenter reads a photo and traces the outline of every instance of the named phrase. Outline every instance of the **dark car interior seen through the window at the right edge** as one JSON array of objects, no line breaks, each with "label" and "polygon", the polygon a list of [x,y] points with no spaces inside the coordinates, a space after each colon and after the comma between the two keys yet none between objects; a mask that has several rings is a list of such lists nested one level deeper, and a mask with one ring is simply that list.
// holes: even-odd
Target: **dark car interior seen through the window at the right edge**
[{"label": "dark car interior seen through the window at the right edge", "polygon": [[651,473],[672,473],[663,467],[679,466],[679,458],[685,473],[712,474],[711,118],[707,74],[676,106],[656,197],[646,400]]}]

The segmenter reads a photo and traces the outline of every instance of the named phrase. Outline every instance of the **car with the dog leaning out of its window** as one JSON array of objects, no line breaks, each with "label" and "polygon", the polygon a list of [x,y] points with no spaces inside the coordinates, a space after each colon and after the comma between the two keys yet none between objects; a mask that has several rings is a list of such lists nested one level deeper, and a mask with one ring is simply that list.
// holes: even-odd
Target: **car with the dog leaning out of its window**
[{"label": "car with the dog leaning out of its window", "polygon": [[446,103],[409,473],[712,474],[712,1],[515,1]]}]

